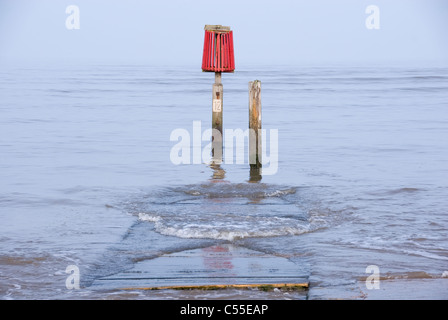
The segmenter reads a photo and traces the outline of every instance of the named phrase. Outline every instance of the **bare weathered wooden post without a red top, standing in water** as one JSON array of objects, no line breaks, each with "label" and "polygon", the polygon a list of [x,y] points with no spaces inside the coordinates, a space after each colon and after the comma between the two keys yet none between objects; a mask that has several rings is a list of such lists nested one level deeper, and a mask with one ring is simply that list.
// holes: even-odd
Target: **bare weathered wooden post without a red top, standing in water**
[{"label": "bare weathered wooden post without a red top, standing in water", "polygon": [[261,180],[261,82],[249,82],[249,164],[250,181]]}]

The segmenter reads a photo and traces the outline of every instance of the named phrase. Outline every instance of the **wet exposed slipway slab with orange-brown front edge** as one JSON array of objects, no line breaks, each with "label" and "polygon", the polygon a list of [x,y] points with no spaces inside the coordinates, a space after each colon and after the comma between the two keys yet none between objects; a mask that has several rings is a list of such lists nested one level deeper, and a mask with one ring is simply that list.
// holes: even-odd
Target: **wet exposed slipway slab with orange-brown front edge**
[{"label": "wet exposed slipway slab with orange-brown front edge", "polygon": [[306,289],[308,275],[292,261],[234,245],[165,254],[97,279],[91,289]]}]

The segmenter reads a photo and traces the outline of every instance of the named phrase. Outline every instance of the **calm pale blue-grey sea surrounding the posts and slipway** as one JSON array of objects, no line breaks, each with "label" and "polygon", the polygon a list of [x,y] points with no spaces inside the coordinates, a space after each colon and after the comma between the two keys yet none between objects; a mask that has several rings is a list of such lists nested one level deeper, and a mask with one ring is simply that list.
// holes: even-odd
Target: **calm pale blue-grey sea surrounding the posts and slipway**
[{"label": "calm pale blue-grey sea surrounding the posts and slipway", "polygon": [[[223,75],[224,128],[247,128],[248,82],[257,79],[263,128],[278,130],[278,172],[250,183],[247,164],[170,160],[173,130],[193,139],[194,121],[210,127],[211,73],[2,67],[0,299],[364,299],[417,291],[448,299],[448,68],[241,67]],[[309,275],[310,289],[91,287],[138,261],[228,244],[286,257]],[[69,265],[80,269],[79,290],[66,288]],[[366,287],[371,265],[380,290]]]}]

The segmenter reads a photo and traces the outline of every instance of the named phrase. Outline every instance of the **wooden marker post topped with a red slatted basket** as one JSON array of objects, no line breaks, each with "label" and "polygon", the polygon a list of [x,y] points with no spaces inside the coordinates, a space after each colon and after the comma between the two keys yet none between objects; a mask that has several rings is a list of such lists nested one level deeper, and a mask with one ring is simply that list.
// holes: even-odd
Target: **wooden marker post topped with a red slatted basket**
[{"label": "wooden marker post topped with a red slatted basket", "polygon": [[215,72],[212,96],[212,157],[222,161],[223,154],[223,86],[222,72],[234,72],[233,32],[230,27],[206,25],[202,71]]}]

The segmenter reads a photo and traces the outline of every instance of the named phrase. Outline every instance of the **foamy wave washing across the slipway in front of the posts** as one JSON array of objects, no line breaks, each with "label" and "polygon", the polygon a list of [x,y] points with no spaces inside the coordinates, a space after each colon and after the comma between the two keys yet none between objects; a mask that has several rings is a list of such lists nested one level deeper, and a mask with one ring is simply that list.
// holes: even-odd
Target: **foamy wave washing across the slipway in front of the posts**
[{"label": "foamy wave washing across the slipway in front of the posts", "polygon": [[140,195],[130,213],[163,235],[228,241],[295,236],[338,223],[340,212],[299,190],[262,183],[169,187]]}]

